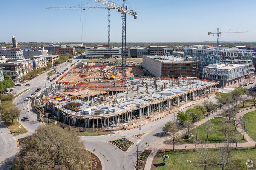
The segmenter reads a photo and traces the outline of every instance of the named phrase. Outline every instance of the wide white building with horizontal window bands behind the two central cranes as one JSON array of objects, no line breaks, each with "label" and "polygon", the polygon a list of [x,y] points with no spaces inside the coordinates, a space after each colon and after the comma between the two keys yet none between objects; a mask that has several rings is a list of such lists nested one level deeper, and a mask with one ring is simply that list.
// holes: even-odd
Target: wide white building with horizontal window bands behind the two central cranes
[{"label": "wide white building with horizontal window bands behind the two central cranes", "polygon": [[[85,57],[86,58],[108,58],[107,47],[86,47]],[[121,58],[121,49],[118,47],[111,47],[111,58]]]}]

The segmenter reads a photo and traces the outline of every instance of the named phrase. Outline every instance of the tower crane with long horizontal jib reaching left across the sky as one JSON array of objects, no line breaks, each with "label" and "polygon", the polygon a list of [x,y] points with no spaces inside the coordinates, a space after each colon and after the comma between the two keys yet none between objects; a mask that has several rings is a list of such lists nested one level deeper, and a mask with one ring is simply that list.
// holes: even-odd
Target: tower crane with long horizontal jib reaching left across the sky
[{"label": "tower crane with long horizontal jib reaching left across the sky", "polygon": [[109,8],[109,7],[47,7],[47,10],[108,10],[108,58],[110,58],[111,61],[111,47],[110,47],[110,9],[115,8]]}]

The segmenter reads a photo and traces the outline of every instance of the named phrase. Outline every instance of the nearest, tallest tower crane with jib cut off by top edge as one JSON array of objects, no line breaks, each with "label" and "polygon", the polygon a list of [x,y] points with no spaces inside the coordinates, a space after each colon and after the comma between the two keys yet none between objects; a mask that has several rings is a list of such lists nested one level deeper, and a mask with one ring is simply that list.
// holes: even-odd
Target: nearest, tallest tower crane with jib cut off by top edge
[{"label": "nearest, tallest tower crane with jib cut off by top edge", "polygon": [[133,11],[128,11],[126,6],[126,0],[123,0],[123,5],[118,6],[113,2],[106,0],[95,0],[99,3],[107,5],[110,8],[117,9],[118,12],[122,14],[122,70],[123,70],[123,86],[126,86],[126,14],[132,15],[134,19],[137,19],[137,13]]}]

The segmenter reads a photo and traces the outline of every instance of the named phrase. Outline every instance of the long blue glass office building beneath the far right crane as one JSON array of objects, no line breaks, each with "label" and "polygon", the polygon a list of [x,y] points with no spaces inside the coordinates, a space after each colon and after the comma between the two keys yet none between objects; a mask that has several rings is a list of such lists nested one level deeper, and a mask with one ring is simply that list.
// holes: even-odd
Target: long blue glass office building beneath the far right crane
[{"label": "long blue glass office building beneath the far right crane", "polygon": [[184,48],[184,56],[191,56],[200,61],[200,66],[209,64],[223,63],[228,60],[252,60],[253,50],[242,50],[239,48],[229,47],[205,47],[194,46]]}]

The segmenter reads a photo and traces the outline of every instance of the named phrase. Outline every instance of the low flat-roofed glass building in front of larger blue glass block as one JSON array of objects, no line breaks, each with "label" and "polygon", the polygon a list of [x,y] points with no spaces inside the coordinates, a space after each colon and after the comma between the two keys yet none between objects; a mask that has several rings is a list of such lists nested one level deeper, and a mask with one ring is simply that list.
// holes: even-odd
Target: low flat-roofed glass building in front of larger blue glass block
[{"label": "low flat-roofed glass building in front of larger blue glass block", "polygon": [[219,81],[223,87],[231,86],[244,80],[248,67],[248,64],[210,64],[203,67],[203,79]]}]

